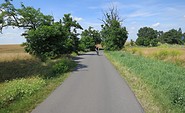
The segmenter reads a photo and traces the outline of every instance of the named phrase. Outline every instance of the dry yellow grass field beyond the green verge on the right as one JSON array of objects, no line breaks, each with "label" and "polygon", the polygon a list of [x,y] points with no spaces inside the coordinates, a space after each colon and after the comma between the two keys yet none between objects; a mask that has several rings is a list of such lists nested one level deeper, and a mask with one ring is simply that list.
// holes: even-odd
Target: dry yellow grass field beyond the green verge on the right
[{"label": "dry yellow grass field beyond the green verge on the right", "polygon": [[[172,62],[185,67],[185,47],[128,47],[126,51],[149,58]],[[163,56],[162,54],[165,52],[166,55]]]}]

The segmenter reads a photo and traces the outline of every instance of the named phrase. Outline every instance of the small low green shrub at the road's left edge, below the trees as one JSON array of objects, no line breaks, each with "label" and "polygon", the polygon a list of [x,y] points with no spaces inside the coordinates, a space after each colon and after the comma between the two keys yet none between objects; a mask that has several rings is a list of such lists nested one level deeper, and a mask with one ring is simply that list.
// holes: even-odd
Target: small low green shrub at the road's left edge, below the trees
[{"label": "small low green shrub at the road's left edge, below the trees", "polygon": [[70,59],[61,59],[58,63],[53,65],[52,70],[55,75],[58,75],[70,71],[75,66],[74,61],[71,61]]}]

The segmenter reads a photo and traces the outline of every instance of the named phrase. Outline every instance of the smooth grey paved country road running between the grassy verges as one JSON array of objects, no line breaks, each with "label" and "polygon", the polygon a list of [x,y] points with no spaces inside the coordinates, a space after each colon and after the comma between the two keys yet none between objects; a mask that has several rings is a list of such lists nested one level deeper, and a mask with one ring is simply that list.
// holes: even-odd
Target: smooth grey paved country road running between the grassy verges
[{"label": "smooth grey paved country road running between the grassy verges", "polygon": [[88,52],[76,61],[69,78],[32,113],[144,113],[103,52]]}]

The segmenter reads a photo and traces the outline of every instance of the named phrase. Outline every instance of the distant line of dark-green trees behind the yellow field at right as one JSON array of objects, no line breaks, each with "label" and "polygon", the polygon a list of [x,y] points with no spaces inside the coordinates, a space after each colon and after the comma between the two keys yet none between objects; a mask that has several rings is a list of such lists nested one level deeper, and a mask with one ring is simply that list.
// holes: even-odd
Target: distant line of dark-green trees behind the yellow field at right
[{"label": "distant line of dark-green trees behind the yellow field at right", "polygon": [[184,44],[185,33],[181,28],[171,29],[167,32],[157,31],[150,27],[143,27],[138,30],[136,44],[139,46],[157,46],[158,42],[168,44]]}]

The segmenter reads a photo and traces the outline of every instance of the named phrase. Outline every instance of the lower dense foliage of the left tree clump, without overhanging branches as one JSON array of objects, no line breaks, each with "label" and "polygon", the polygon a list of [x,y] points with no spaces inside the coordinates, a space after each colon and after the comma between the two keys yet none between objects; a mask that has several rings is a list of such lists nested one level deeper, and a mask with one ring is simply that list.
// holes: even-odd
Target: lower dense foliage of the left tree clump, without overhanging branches
[{"label": "lower dense foliage of the left tree clump, without overhanging branches", "polygon": [[77,53],[79,39],[76,29],[81,27],[73,21],[70,14],[63,19],[51,25],[40,25],[37,29],[29,30],[25,37],[27,40],[24,44],[25,50],[42,61],[60,57],[62,54]]}]

